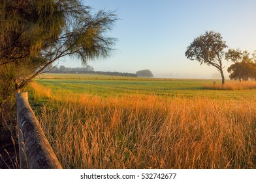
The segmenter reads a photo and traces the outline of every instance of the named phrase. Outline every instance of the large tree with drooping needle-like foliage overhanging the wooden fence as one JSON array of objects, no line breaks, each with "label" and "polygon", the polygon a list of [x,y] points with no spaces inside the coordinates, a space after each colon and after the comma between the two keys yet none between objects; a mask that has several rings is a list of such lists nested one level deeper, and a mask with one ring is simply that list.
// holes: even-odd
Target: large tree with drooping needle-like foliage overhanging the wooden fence
[{"label": "large tree with drooping needle-like foliage overhanging the wooden fence", "polygon": [[114,12],[92,14],[80,0],[0,1],[0,71],[10,81],[1,97],[24,88],[61,57],[84,64],[108,57],[116,39],[106,32],[116,20]]}]

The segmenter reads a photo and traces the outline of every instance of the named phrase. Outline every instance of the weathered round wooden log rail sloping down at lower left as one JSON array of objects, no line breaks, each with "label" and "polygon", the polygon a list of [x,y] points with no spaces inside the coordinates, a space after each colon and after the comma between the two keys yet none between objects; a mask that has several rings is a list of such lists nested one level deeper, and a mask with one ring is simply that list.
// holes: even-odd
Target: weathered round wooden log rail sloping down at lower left
[{"label": "weathered round wooden log rail sloping down at lower left", "polygon": [[46,139],[40,123],[29,105],[27,92],[16,94],[16,105],[20,167],[37,169],[62,168],[56,157],[56,153],[54,153],[54,150]]}]

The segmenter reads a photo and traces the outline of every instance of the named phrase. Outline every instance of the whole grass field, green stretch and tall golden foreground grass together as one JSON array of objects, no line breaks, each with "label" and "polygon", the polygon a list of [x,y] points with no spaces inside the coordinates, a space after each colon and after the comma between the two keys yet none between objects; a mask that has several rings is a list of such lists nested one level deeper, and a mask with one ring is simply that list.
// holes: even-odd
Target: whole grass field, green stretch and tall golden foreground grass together
[{"label": "whole grass field, green stretch and tall golden foreground grass together", "polygon": [[212,82],[46,74],[29,92],[64,168],[256,168],[256,90]]}]

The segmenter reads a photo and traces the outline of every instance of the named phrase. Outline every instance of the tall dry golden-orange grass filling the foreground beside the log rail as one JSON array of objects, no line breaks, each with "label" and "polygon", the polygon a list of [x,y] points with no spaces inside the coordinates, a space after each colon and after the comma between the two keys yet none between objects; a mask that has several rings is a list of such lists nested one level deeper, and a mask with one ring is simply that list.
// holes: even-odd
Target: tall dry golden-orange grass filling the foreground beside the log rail
[{"label": "tall dry golden-orange grass filling the foreground beside the log rail", "polygon": [[64,168],[255,168],[256,103],[54,98],[39,114]]}]

